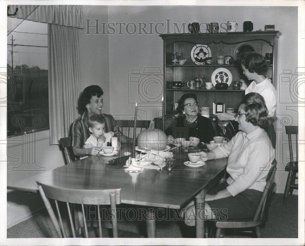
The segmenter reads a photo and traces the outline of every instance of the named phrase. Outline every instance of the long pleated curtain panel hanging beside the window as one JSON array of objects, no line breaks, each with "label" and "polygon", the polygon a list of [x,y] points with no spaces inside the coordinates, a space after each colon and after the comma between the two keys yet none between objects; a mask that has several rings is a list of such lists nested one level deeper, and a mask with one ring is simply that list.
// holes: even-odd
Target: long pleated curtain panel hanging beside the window
[{"label": "long pleated curtain panel hanging beside the window", "polygon": [[69,136],[81,91],[78,31],[48,24],[50,144]]}]

